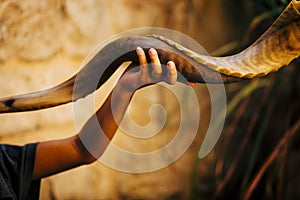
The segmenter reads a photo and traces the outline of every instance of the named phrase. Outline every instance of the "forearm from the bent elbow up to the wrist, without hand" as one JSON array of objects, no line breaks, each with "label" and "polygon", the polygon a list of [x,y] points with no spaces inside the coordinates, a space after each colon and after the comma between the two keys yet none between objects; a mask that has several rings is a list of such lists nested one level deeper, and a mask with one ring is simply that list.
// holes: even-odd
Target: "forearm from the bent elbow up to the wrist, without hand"
[{"label": "forearm from the bent elbow up to the wrist, without hand", "polygon": [[78,134],[78,144],[85,163],[91,163],[103,154],[119,127],[133,93],[117,85],[95,117],[90,118],[82,128]]}]

